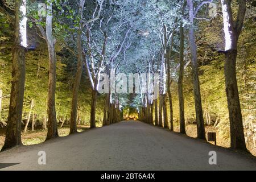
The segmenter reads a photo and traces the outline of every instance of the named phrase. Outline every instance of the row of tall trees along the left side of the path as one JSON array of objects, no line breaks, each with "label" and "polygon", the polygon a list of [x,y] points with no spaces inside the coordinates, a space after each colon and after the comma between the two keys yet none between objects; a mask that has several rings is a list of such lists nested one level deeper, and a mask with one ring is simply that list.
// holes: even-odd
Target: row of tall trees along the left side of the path
[{"label": "row of tall trees along the left side of the path", "polygon": [[[77,100],[84,64],[89,81],[92,84],[90,109],[90,127],[92,128],[96,127],[96,98],[100,73],[104,71],[109,72],[115,64],[117,68],[120,61],[119,63],[115,63],[115,60],[117,60],[119,55],[125,54],[125,50],[129,48],[130,44],[129,32],[131,26],[122,16],[122,3],[119,5],[114,1],[104,0],[88,2],[81,0],[77,4],[68,1],[46,1],[46,13],[43,16],[42,11],[38,11],[38,9],[35,8],[37,5],[38,2],[28,3],[26,1],[15,1],[16,24],[14,29],[16,38],[14,42],[17,48],[15,48],[13,52],[13,86],[11,89],[9,117],[7,119],[6,140],[2,150],[22,144],[20,136],[24,97],[26,46],[20,44],[22,40],[22,34],[20,34],[21,6],[27,7],[27,17],[30,27],[36,26],[34,28],[40,31],[39,36],[46,41],[48,47],[49,82],[47,97],[47,140],[58,136],[55,104],[56,43],[59,41],[65,44],[69,52],[77,57],[77,71],[75,79],[73,80],[70,134],[76,133],[77,131]],[[8,11],[3,10],[3,14],[8,17],[13,17]],[[10,19],[10,22],[12,20],[14,19]],[[113,26],[114,20],[119,22],[118,26]],[[97,23],[94,23],[96,21]],[[127,26],[129,26],[129,28],[126,30]],[[58,36],[58,39],[56,39],[53,34]],[[123,36],[123,34],[125,36]],[[122,36],[123,39],[119,39]],[[109,39],[113,40],[107,44]],[[101,51],[99,51],[100,47],[102,47]],[[106,56],[106,52],[109,53],[109,51],[112,52],[112,55]],[[112,67],[105,69],[106,65],[110,63]],[[15,79],[17,81],[15,81]],[[105,109],[105,112],[108,113],[106,114],[105,125],[118,122],[122,117],[118,96],[112,98],[112,94],[109,95],[110,96],[106,98],[109,104],[106,104],[107,109]]]}]

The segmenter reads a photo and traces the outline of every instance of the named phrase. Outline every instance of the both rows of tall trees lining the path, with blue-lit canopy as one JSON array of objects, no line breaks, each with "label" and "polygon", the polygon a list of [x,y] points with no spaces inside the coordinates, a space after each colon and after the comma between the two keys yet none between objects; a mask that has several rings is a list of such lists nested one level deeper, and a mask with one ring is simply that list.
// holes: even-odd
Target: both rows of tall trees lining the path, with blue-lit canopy
[{"label": "both rows of tall trees lining the path, with blue-lit canopy", "polygon": [[[82,75],[85,72],[89,82],[90,93],[90,127],[96,127],[97,106],[102,108],[102,125],[118,122],[122,118],[122,109],[127,106],[129,96],[117,94],[112,90],[113,82],[108,82],[108,93],[104,94],[104,103],[97,104],[100,95],[98,88],[101,73],[115,76],[118,73],[159,73],[159,84],[147,80],[148,92],[133,94],[131,107],[137,107],[139,118],[148,123],[168,127],[174,130],[174,96],[177,92],[179,102],[180,133],[185,130],[185,95],[184,77],[190,76],[193,85],[193,105],[195,106],[195,119],[197,124],[197,137],[205,139],[204,112],[202,107],[200,88],[200,60],[207,43],[198,36],[199,30],[206,30],[212,26],[214,20],[224,27],[224,46],[212,46],[212,52],[225,55],[225,86],[228,100],[231,147],[246,150],[245,136],[243,134],[242,114],[238,86],[236,80],[237,42],[245,18],[246,2],[236,1],[234,7],[231,1],[221,1],[222,13],[214,12],[214,16],[206,16],[211,9],[207,5],[217,3],[213,1],[85,1],[77,3],[69,1],[46,1],[46,13],[38,11],[39,2],[15,1],[14,11],[8,6],[1,7],[0,12],[5,15],[15,28],[15,48],[13,52],[13,78],[10,96],[9,117],[7,119],[6,142],[2,150],[21,144],[21,120],[23,111],[24,83],[25,83],[25,53],[26,48],[20,46],[20,6],[26,5],[28,24],[37,36],[44,39],[47,44],[49,57],[49,82],[47,97],[48,133],[47,139],[57,137],[56,112],[56,65],[58,46],[63,47],[65,54],[71,57],[72,67],[72,96],[71,108],[67,109],[70,115],[70,134],[76,133],[81,108]],[[232,12],[233,11],[233,12]],[[40,12],[40,13],[39,13]],[[222,14],[222,17],[220,16]],[[236,14],[236,18],[233,18]],[[222,19],[222,20],[220,20]],[[206,21],[205,21],[206,20]],[[203,24],[203,26],[201,26]],[[201,29],[200,29],[201,28]],[[219,32],[220,36],[222,31]],[[205,35],[205,34],[204,34]],[[212,36],[213,34],[210,34]],[[209,36],[209,37],[210,37]],[[206,37],[206,36],[205,36]],[[224,37],[221,38],[223,42]],[[42,40],[40,40],[42,42]],[[204,45],[205,47],[203,47]],[[28,47],[29,48],[29,47]],[[203,49],[203,50],[202,50]],[[221,51],[220,51],[221,50]],[[60,51],[59,51],[60,52]],[[205,51],[207,52],[207,51]],[[63,53],[61,53],[63,54]],[[65,56],[64,56],[65,57]],[[217,57],[217,56],[216,56]],[[39,58],[40,59],[40,58]],[[75,61],[73,61],[75,60]],[[189,67],[191,65],[191,67]],[[58,67],[57,67],[58,68]],[[191,73],[185,69],[191,68]],[[141,80],[143,80],[141,78]],[[150,82],[152,84],[150,84]],[[174,83],[177,89],[174,93]],[[141,82],[141,84],[143,84]],[[58,85],[58,82],[57,82]],[[142,87],[142,85],[141,85]],[[158,89],[156,89],[158,87]],[[84,89],[84,88],[82,88]],[[158,91],[156,91],[158,90]],[[158,92],[159,98],[152,97]],[[33,100],[30,102],[32,108]],[[85,102],[88,102],[87,100]],[[68,102],[69,103],[69,102]],[[79,104],[80,103],[80,104]],[[192,105],[192,104],[191,104]],[[67,106],[64,105],[67,108]],[[31,109],[30,109],[31,110]],[[168,112],[169,111],[169,112]],[[187,111],[186,111],[187,112]],[[28,112],[30,113],[30,112]],[[30,115],[30,114],[28,114]],[[34,114],[33,114],[34,115]],[[208,121],[209,113],[206,114]],[[30,118],[30,117],[28,117]],[[59,117],[61,119],[61,117]],[[62,118],[63,120],[63,118]],[[30,119],[27,120],[28,122]],[[27,122],[27,124],[28,124]],[[170,124],[169,124],[170,123]],[[27,125],[26,125],[27,127]]]}]

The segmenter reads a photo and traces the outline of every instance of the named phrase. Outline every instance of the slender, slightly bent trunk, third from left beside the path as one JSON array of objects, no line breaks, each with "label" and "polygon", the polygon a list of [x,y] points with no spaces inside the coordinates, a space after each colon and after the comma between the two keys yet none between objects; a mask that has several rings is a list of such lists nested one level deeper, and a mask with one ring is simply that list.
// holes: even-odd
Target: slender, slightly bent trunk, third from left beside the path
[{"label": "slender, slightly bent trunk, third from left beside the path", "polygon": [[79,95],[79,86],[81,82],[82,76],[82,10],[84,8],[85,0],[80,0],[79,4],[79,18],[80,18],[80,26],[77,30],[77,71],[76,77],[73,84],[73,96],[72,96],[72,104],[71,104],[71,118],[70,118],[70,130],[69,134],[73,134],[77,132],[76,120],[77,120],[77,102]]}]

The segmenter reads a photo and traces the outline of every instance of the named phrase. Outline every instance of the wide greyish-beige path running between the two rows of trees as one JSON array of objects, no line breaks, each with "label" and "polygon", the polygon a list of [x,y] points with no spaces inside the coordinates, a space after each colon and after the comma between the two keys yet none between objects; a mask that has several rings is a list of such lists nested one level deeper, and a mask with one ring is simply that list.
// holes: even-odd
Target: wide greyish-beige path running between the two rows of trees
[{"label": "wide greyish-beige path running between the two rows of trees", "polygon": [[[46,165],[38,151],[46,151]],[[208,152],[217,152],[217,165]],[[10,166],[10,163],[13,164]],[[9,166],[3,168],[4,166]],[[142,122],[121,122],[35,146],[0,153],[3,169],[78,170],[256,170],[256,159]]]}]

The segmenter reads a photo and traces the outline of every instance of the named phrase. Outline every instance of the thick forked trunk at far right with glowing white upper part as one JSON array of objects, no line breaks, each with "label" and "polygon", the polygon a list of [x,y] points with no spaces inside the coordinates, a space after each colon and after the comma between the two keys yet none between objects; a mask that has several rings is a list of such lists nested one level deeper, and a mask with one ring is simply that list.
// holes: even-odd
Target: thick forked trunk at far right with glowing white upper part
[{"label": "thick forked trunk at far right with glowing white upper part", "polygon": [[221,0],[221,3],[225,33],[224,73],[229,109],[230,146],[233,149],[247,151],[236,77],[237,41],[245,18],[246,1],[239,1],[236,22],[233,22],[231,1]]}]

